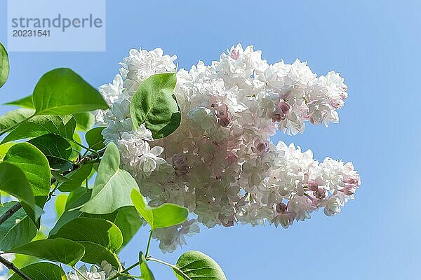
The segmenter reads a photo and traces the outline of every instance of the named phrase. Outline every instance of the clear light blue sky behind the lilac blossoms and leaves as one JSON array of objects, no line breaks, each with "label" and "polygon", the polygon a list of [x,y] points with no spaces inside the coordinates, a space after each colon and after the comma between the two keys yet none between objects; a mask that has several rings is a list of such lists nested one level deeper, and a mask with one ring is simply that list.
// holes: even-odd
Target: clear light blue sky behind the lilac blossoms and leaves
[{"label": "clear light blue sky behind the lilac blossoms and leaves", "polygon": [[[163,255],[155,242],[151,253],[175,263],[184,251],[203,251],[229,280],[420,279],[420,14],[420,1],[107,1],[106,52],[11,52],[0,103],[32,93],[43,73],[61,66],[95,86],[109,83],[139,47],[161,47],[187,69],[236,43],[255,45],[269,63],[299,58],[319,74],[335,69],[349,87],[340,123],[274,141],[310,148],[318,160],[354,162],[362,178],[356,200],[288,230],[202,228],[175,253]],[[146,239],[140,230],[121,259],[135,262]],[[167,267],[151,266],[157,280],[174,279]]]}]

